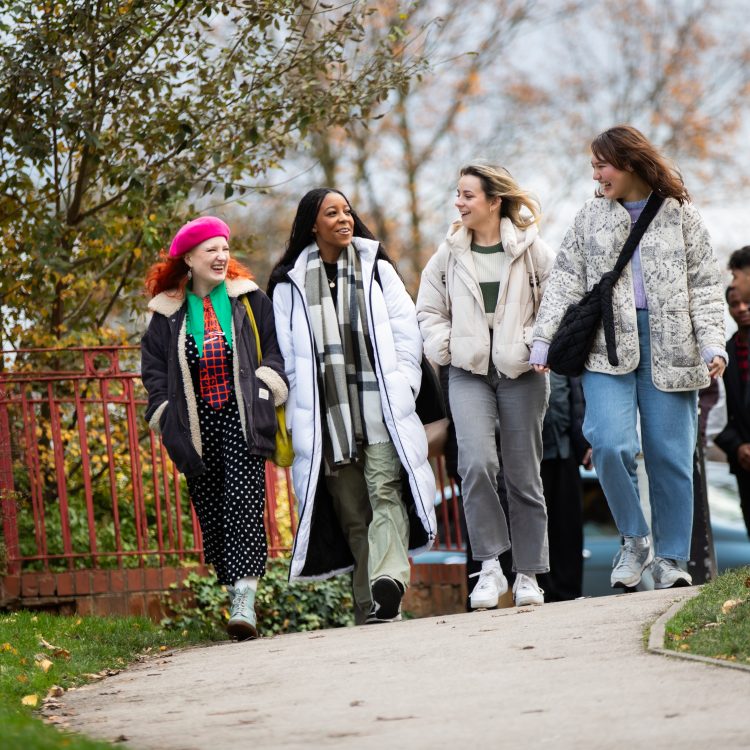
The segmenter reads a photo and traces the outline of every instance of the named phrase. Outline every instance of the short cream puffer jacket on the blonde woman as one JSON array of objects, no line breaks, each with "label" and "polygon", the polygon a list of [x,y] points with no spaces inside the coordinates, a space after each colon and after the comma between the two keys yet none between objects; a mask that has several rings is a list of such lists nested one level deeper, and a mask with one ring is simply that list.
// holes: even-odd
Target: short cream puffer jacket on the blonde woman
[{"label": "short cream puffer jacket on the blonde woman", "polygon": [[[504,217],[500,240],[510,265],[500,282],[491,354],[500,373],[517,378],[530,369],[531,332],[554,254],[535,224],[520,229]],[[471,232],[460,221],[451,225],[422,272],[417,318],[431,360],[487,374],[490,329],[471,254]]]}]

